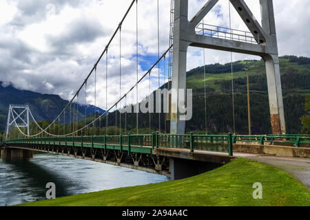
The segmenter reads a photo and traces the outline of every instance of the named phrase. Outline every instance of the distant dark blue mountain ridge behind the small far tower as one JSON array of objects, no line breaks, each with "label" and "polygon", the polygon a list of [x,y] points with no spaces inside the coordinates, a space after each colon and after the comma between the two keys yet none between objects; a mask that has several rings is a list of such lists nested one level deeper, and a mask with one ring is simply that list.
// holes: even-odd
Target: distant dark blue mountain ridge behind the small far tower
[{"label": "distant dark blue mountain ridge behind the small far tower", "polygon": [[[63,100],[58,95],[40,94],[34,91],[16,89],[12,83],[0,81],[0,131],[3,131],[6,127],[10,104],[28,104],[37,121],[54,120],[68,104],[68,100]],[[92,115],[94,112],[105,112],[105,110],[90,104],[79,104],[78,109],[79,118],[84,117],[85,109],[86,115]]]}]

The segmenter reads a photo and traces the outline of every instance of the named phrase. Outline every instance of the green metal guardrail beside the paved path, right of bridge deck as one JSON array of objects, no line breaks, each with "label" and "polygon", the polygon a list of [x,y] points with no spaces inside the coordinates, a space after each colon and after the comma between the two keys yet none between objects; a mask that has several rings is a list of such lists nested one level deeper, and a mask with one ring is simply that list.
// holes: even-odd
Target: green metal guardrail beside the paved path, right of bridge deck
[{"label": "green metal guardrail beside the paved path, right of bridge deck", "polygon": [[233,135],[233,143],[236,142],[258,142],[259,144],[291,144],[300,147],[310,146],[310,135]]}]

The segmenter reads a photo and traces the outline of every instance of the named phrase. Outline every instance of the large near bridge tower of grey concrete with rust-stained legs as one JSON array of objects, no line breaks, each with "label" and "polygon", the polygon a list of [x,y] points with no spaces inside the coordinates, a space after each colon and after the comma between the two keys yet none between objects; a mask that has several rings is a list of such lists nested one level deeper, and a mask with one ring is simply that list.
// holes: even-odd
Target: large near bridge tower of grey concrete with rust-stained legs
[{"label": "large near bridge tower of grey concrete with rust-stained legs", "polygon": [[[174,50],[172,67],[172,89],[186,89],[187,47],[203,47],[227,52],[237,52],[261,56],[266,65],[267,84],[269,94],[269,109],[271,129],[273,134],[285,134],[285,114],[282,100],[280,67],[278,60],[278,45],[276,25],[273,14],[273,1],[260,0],[262,25],[258,23],[254,14],[243,0],[230,0],[240,14],[240,17],[253,34],[254,42],[238,41],[232,32],[228,32],[226,39],[197,34],[196,27],[206,14],[218,3],[209,0],[203,8],[189,21],[188,0],[174,1]],[[231,31],[231,30],[230,30]],[[230,37],[229,37],[230,34]],[[215,34],[216,35],[216,34]],[[172,93],[171,133],[185,133],[185,121],[178,109],[179,100],[185,97]]]}]

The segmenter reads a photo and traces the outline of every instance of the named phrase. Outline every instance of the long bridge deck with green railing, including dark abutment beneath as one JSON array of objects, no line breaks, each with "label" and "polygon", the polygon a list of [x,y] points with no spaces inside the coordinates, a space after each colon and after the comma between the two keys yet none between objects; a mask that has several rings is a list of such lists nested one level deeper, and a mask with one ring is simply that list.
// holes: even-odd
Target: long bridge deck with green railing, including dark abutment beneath
[{"label": "long bridge deck with green railing, including dark abutment beneath", "polygon": [[[128,144],[129,143],[129,144]],[[5,142],[1,155],[39,151],[124,166],[182,179],[234,159],[229,135],[115,135],[40,137]]]}]

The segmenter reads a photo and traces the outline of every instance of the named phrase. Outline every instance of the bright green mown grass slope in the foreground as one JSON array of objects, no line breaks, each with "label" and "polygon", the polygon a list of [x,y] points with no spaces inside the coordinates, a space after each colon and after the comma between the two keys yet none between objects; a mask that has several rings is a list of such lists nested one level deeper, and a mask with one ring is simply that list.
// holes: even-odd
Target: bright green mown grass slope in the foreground
[{"label": "bright green mown grass slope in the foreground", "polygon": [[[255,182],[262,199],[253,199]],[[22,206],[310,206],[309,190],[282,170],[236,159],[178,181],[91,192]]]}]

